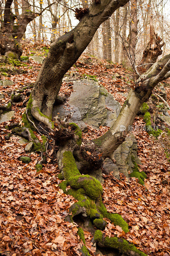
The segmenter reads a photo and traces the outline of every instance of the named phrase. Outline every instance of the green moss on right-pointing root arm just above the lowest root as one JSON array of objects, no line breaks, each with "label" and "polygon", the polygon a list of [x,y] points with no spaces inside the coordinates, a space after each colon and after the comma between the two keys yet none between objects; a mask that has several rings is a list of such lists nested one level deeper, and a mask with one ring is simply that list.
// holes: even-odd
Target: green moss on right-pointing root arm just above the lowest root
[{"label": "green moss on right-pointing root arm just above the lowest root", "polygon": [[120,226],[125,233],[129,232],[128,223],[125,220],[123,220],[122,216],[118,213],[107,212],[107,209],[102,203],[102,201],[100,201],[99,211],[104,218],[111,220],[115,226]]}]

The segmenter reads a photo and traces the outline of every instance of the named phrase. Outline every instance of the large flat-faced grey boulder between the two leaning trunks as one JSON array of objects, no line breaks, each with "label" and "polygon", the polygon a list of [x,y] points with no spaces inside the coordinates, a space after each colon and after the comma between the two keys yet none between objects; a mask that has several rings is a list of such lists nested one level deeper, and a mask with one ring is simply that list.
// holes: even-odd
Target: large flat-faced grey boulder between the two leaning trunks
[{"label": "large flat-faced grey boulder between the two leaning trunks", "polygon": [[54,106],[52,116],[59,115],[63,118],[64,115],[75,111],[71,121],[83,129],[85,123],[94,128],[99,128],[101,125],[111,127],[121,109],[119,102],[114,100],[102,85],[88,80],[73,81],[73,92],[68,105],[67,108],[66,104]]}]

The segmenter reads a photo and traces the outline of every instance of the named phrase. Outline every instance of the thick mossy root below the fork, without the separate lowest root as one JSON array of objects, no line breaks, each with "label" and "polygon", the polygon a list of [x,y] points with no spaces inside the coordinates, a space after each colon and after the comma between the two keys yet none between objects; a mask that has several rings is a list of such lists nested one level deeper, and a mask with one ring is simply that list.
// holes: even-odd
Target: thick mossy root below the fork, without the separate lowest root
[{"label": "thick mossy root below the fork, without the separate lowest root", "polygon": [[[104,230],[106,227],[104,217],[122,227],[125,233],[129,231],[128,224],[121,215],[107,212],[101,199],[102,186],[100,182],[89,175],[79,173],[71,151],[63,153],[63,177],[65,180],[61,182],[60,188],[64,193],[72,195],[78,200],[70,207],[73,217],[82,214],[83,218],[91,220],[93,225],[100,230]],[[71,188],[66,191],[67,185],[70,185]]]}]

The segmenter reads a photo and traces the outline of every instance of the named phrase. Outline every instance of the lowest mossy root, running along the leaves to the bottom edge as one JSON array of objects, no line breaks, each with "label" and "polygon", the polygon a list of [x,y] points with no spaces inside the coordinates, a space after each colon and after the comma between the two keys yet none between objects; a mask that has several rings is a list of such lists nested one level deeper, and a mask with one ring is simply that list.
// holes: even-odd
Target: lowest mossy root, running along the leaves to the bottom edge
[{"label": "lowest mossy root, running along the leaves to the bottom edge", "polygon": [[129,256],[147,256],[144,252],[138,250],[135,245],[130,244],[125,239],[116,236],[104,236],[100,230],[95,231],[94,241],[97,242],[100,247],[115,248]]}]

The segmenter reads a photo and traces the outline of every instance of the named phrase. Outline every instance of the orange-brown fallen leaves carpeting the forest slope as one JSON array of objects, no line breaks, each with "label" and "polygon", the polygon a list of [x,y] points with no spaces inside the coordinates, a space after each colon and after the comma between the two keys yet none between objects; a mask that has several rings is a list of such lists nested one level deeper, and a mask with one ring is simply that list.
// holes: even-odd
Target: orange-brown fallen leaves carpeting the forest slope
[{"label": "orange-brown fallen leaves carpeting the forest slope", "polygon": [[[41,49],[40,49],[41,48]],[[36,50],[25,47],[23,55],[45,55],[43,46]],[[8,93],[34,83],[38,75],[40,64],[30,60],[26,66],[18,69],[26,73],[15,74],[10,77],[1,76],[1,80],[10,79],[13,86],[3,88],[0,93],[5,95],[0,104],[8,102]],[[117,72],[121,78],[113,80]],[[115,100],[122,105],[125,96],[133,87],[133,80],[129,80],[128,72],[120,65],[111,65],[106,61],[97,60],[83,55],[78,62],[67,72],[66,76],[75,79],[96,76]],[[170,86],[166,87],[168,102],[170,102]],[[72,88],[69,83],[63,82],[60,95],[70,95]],[[156,89],[159,91],[159,88]],[[26,93],[26,91],[25,91]],[[22,102],[12,106],[15,111],[12,123],[20,122],[25,111]],[[26,154],[26,144],[20,145],[18,138],[13,135],[10,140],[4,136],[9,131],[5,128],[10,122],[0,124],[0,255],[80,255],[78,249],[83,244],[79,241],[76,223],[64,221],[69,207],[76,200],[65,195],[58,185],[59,170],[57,164],[43,165],[40,172],[36,172],[35,164],[41,158],[39,154]],[[170,163],[167,159],[162,141],[169,143],[166,132],[158,139],[148,135],[140,129],[144,126],[143,117],[137,116],[134,125],[139,127],[133,130],[138,141],[138,157],[142,165],[140,169],[147,174],[145,186],[140,185],[136,178],[129,180],[120,175],[117,180],[110,175],[103,174],[103,202],[108,211],[119,213],[129,225],[129,232],[125,234],[122,228],[114,226],[108,219],[107,227],[103,231],[107,236],[118,236],[129,242],[148,255],[170,255]],[[101,136],[108,127],[96,130],[88,126],[83,134],[84,139],[94,139]],[[23,164],[19,156],[29,155],[31,162]],[[86,246],[91,255],[95,248],[91,244],[92,234],[85,232]]]}]

